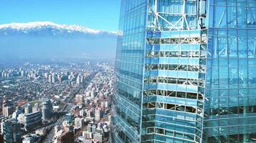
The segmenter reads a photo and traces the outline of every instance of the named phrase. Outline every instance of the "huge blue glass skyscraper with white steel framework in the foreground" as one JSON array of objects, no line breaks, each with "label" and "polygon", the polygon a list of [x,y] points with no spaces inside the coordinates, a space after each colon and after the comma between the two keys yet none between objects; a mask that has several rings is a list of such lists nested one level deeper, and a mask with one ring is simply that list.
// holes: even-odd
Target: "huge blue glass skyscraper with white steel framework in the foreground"
[{"label": "huge blue glass skyscraper with white steel framework in the foreground", "polygon": [[256,1],[122,0],[115,142],[256,142]]}]

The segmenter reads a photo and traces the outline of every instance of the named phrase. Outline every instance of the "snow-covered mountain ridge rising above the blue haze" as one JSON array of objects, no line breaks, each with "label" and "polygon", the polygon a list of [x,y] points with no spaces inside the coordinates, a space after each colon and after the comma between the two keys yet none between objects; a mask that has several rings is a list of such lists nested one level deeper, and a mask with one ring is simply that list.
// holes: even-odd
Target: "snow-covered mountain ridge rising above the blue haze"
[{"label": "snow-covered mountain ridge rising above the blue haze", "polygon": [[116,36],[114,31],[102,31],[96,29],[90,29],[85,26],[79,25],[65,25],[55,24],[50,21],[36,21],[29,23],[12,23],[12,24],[0,24],[0,34],[32,34],[32,35],[113,35]]}]

